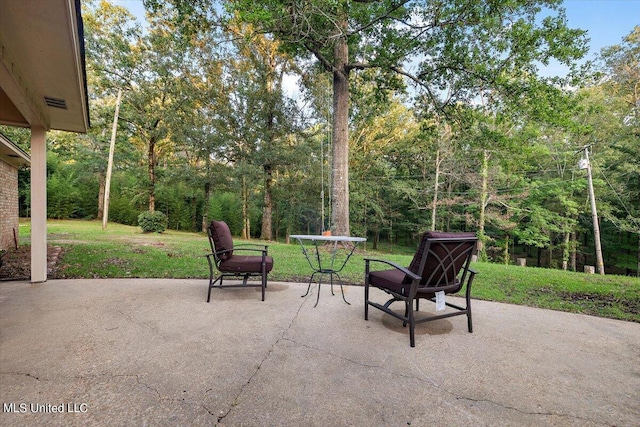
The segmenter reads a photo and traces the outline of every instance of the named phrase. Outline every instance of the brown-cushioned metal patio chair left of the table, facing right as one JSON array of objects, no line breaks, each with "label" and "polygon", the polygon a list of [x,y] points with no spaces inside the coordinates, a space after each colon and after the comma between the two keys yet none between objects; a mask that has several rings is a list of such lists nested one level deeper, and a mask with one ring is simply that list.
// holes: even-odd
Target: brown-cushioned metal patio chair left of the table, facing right
[{"label": "brown-cushioned metal patio chair left of the table, facing right", "polygon": [[[214,287],[222,288],[222,280],[225,277],[241,277],[242,284],[224,285],[224,287],[261,287],[262,301],[264,301],[267,274],[273,269],[273,258],[267,256],[269,247],[257,244],[234,246],[231,231],[224,221],[211,221],[207,230],[211,245],[211,253],[206,255],[207,261],[209,261],[207,302],[211,299],[211,289]],[[259,255],[243,255],[244,252],[258,253]],[[215,270],[220,273],[220,276],[214,280]],[[261,281],[257,284],[248,283],[249,277],[260,277]],[[216,285],[218,281],[220,283]]]}]

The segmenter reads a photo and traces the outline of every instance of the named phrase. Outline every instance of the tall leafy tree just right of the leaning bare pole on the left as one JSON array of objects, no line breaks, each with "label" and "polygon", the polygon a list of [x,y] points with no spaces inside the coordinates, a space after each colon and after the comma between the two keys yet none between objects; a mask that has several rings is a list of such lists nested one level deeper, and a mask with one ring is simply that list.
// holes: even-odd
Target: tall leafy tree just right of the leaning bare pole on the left
[{"label": "tall leafy tree just right of the leaning bare pole on the left", "polygon": [[144,153],[148,210],[153,212],[157,165],[172,153],[172,134],[188,126],[185,110],[193,108],[192,40],[176,26],[168,8],[147,16],[145,34],[125,8],[104,0],[87,18],[88,62],[97,93],[124,91],[120,121]]}]

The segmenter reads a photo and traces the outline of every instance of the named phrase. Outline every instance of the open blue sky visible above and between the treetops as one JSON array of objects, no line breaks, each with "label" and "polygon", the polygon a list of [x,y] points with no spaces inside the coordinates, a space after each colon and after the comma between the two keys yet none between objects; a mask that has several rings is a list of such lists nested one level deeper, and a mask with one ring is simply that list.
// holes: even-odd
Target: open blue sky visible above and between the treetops
[{"label": "open blue sky visible above and between the treetops", "polygon": [[[142,0],[111,0],[112,3],[128,8],[144,21]],[[600,49],[620,44],[635,26],[640,26],[640,0],[565,0],[570,28],[588,31],[591,50],[587,59],[593,59]],[[561,67],[549,67],[544,72],[562,73]]]}]

